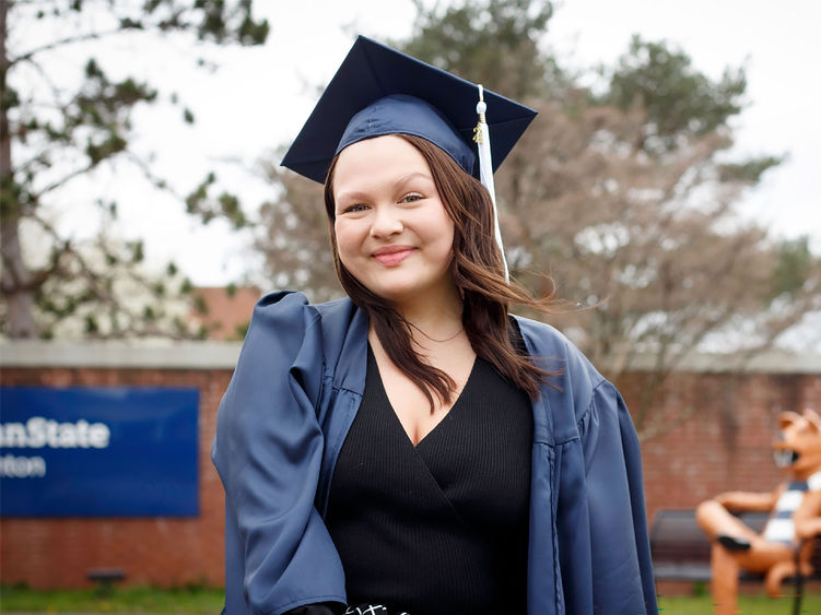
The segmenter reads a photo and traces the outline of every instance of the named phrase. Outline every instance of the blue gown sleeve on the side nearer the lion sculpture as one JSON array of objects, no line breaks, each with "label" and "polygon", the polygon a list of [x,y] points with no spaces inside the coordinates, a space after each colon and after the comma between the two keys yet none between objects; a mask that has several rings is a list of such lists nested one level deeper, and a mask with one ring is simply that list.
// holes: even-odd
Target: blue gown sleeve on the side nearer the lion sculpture
[{"label": "blue gown sleeve on the side nearer the lion sculpture", "polygon": [[615,388],[600,380],[579,421],[596,613],[657,613],[633,422]]}]

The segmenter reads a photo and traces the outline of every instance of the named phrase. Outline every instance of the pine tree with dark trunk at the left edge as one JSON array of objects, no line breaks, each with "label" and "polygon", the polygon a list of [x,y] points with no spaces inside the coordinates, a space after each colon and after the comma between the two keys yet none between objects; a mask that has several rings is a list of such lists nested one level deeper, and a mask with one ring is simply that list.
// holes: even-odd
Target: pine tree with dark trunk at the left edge
[{"label": "pine tree with dark trunk at the left edge", "polygon": [[[126,241],[114,230],[117,203],[92,194],[72,203],[74,211],[96,206],[96,235],[74,238],[56,222],[68,189],[82,179],[93,186],[99,170],[115,164],[134,165],[155,189],[174,192],[131,146],[136,109],[155,104],[160,93],[133,76],[112,76],[98,57],[102,47],[74,79],[58,74],[52,60],[79,45],[126,35],[247,46],[263,43],[268,29],[267,22],[254,20],[250,0],[0,1],[3,332],[11,338],[78,333],[67,330],[81,322],[82,333],[91,336],[196,334],[181,318],[190,283],[173,263],[161,275],[143,270],[142,243]],[[193,121],[189,109],[180,115]],[[225,217],[244,225],[237,199],[213,197],[214,185],[209,175],[187,198],[175,196],[203,222]]]}]

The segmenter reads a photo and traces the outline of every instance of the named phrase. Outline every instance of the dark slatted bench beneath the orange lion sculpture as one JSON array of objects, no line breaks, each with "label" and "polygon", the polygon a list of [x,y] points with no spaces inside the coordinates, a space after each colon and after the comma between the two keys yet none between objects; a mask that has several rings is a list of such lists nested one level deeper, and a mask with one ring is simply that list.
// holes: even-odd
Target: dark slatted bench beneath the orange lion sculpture
[{"label": "dark slatted bench beneath the orange lion sculpture", "polygon": [[[750,529],[761,532],[769,518],[766,512],[738,515]],[[709,581],[711,543],[695,521],[695,510],[662,509],[656,512],[650,528],[653,573],[657,581]],[[821,541],[816,541],[812,553],[812,579],[821,579]],[[741,581],[762,582],[763,575],[741,572]],[[794,613],[800,612],[804,579],[787,579],[796,584]],[[796,610],[797,608],[797,610]]]}]

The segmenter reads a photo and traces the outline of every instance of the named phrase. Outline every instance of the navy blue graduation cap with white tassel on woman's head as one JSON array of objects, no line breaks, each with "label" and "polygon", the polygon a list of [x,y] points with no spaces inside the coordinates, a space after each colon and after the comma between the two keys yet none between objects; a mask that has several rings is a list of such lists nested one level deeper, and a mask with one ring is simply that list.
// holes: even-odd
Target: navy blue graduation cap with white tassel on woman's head
[{"label": "navy blue graduation cap with white tassel on woman's head", "polygon": [[[282,165],[321,184],[333,157],[348,145],[413,134],[480,178],[495,206],[493,172],[533,117],[536,111],[524,105],[359,36]],[[501,248],[499,224],[496,240]]]}]

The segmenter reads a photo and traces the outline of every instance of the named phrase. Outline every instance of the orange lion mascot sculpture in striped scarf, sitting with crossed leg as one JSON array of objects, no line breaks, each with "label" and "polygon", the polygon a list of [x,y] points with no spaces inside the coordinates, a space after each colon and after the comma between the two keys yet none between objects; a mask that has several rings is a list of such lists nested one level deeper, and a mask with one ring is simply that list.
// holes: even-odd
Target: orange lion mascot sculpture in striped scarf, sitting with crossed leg
[{"label": "orange lion mascot sculpture in striped scarf, sitting with crossed leg", "polygon": [[[779,421],[773,453],[788,480],[772,493],[724,493],[696,510],[713,542],[713,602],[719,615],[736,613],[739,570],[763,572],[771,596],[778,595],[786,577],[812,573],[812,537],[821,534],[821,416],[805,410],[784,412]],[[761,534],[732,515],[747,510],[771,513]]]}]

